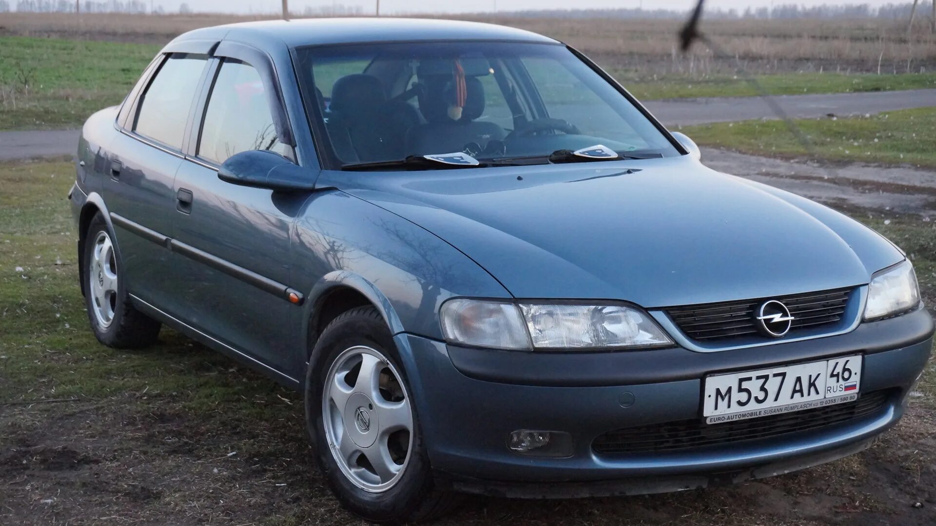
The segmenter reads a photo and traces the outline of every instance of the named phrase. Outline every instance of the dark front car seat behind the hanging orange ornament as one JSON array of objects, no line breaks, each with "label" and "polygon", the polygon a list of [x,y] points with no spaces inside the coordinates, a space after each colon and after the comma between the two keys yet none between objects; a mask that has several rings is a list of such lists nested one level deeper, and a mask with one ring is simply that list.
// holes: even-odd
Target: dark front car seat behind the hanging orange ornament
[{"label": "dark front car seat behind the hanging orange ornament", "polygon": [[419,96],[419,110],[427,123],[414,126],[406,134],[406,152],[417,155],[463,152],[471,143],[481,150],[491,140],[503,140],[504,128],[475,119],[484,113],[484,85],[476,77],[465,78],[465,102],[461,118],[453,120],[448,113],[455,100],[450,81],[428,81],[424,95]]}]

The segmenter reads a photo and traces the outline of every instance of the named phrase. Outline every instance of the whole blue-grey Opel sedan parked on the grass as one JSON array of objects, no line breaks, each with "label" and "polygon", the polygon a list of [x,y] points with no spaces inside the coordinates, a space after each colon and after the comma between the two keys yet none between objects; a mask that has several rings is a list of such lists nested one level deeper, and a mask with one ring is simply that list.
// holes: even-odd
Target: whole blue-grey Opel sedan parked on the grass
[{"label": "whole blue-grey Opel sedan parked on the grass", "polygon": [[97,338],[304,393],[338,499],[630,495],[860,451],[932,345],[907,257],[699,162],[581,53],[469,22],[199,29],[82,131]]}]

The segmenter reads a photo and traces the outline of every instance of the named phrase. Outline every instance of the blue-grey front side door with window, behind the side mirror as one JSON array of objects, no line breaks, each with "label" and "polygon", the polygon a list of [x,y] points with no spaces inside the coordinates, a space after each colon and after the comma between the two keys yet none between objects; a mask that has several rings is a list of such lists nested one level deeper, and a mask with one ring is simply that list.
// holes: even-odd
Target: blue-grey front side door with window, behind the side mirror
[{"label": "blue-grey front side door with window, behind the side mirror", "polygon": [[178,309],[186,323],[282,372],[303,345],[294,319],[300,309],[282,291],[292,270],[290,228],[308,195],[218,179],[218,167],[235,153],[294,155],[272,116],[278,97],[271,96],[270,64],[256,66],[265,60],[260,53],[246,53],[252,62],[231,56],[241,49],[219,46],[197,110],[201,125],[175,178]]}]

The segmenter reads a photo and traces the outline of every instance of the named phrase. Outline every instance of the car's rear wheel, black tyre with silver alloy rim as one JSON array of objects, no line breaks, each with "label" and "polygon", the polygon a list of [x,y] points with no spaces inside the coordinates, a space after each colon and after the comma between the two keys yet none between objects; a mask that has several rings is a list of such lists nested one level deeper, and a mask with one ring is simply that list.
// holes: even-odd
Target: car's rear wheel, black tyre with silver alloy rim
[{"label": "car's rear wheel, black tyre with silver alloy rim", "polygon": [[160,324],[140,313],[130,301],[113,240],[104,216],[97,212],[82,247],[81,279],[88,319],[100,343],[121,349],[145,347],[156,341]]}]

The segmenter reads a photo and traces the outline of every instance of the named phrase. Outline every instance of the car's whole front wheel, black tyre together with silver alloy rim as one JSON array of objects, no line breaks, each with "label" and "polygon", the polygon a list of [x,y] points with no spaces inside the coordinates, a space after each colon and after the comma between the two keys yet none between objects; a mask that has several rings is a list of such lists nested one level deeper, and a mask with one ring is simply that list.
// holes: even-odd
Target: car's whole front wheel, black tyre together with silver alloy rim
[{"label": "car's whole front wheel, black tyre together with silver alloy rim", "polygon": [[416,404],[390,331],[373,307],[335,318],[306,374],[306,428],[345,508],[374,522],[428,520],[457,504],[435,489]]}]

